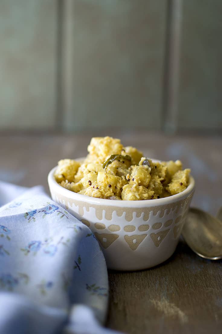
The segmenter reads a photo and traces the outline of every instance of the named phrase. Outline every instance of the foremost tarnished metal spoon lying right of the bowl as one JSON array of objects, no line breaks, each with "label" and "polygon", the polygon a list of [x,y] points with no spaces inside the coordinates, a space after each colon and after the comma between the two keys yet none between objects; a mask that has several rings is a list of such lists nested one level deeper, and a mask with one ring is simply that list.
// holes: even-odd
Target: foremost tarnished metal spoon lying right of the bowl
[{"label": "foremost tarnished metal spoon lying right of the bowl", "polygon": [[[220,209],[219,217],[222,214]],[[222,259],[222,221],[200,209],[190,208],[182,230],[188,246],[205,259]]]}]

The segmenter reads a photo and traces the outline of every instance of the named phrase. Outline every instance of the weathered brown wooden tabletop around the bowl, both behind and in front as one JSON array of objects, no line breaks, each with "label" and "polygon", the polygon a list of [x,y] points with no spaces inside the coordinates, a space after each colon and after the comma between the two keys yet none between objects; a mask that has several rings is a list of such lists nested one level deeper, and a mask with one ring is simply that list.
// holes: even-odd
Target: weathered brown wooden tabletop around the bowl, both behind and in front
[{"label": "weathered brown wooden tabletop around the bowl, both behind and in front", "polygon": [[[192,206],[216,214],[222,205],[222,138],[166,136],[144,131],[76,135],[0,135],[0,179],[24,186],[42,184],[62,158],[86,155],[92,136],[108,133],[151,158],[181,159],[192,169]],[[109,271],[107,327],[137,333],[215,333],[222,331],[222,261],[196,256],[182,241],[164,264],[137,272]]]}]

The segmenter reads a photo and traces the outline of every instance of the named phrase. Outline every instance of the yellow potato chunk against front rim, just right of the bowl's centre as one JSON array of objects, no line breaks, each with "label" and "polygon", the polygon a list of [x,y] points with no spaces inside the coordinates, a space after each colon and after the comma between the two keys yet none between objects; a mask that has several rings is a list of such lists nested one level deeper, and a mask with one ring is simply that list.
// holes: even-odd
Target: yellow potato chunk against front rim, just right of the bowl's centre
[{"label": "yellow potato chunk against front rim, just right of the bowl's centre", "polygon": [[148,190],[144,186],[132,186],[131,184],[126,184],[123,186],[121,198],[127,201],[138,201],[142,199],[150,199],[153,193],[154,191]]}]

